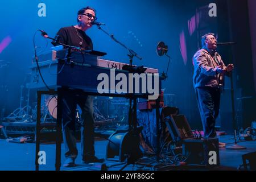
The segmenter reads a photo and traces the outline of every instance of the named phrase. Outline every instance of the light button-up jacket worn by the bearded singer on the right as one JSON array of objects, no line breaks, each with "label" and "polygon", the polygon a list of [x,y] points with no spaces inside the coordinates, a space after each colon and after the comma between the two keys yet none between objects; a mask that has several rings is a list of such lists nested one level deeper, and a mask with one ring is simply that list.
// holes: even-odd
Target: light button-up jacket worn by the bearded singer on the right
[{"label": "light button-up jacket worn by the bearded singer on the right", "polygon": [[217,67],[222,65],[223,69],[225,69],[226,66],[217,52],[213,54],[215,59],[210,56],[210,53],[206,49],[200,49],[195,53],[193,57],[194,88],[201,86],[218,88],[220,82],[221,84],[224,83],[224,75],[217,73]]}]

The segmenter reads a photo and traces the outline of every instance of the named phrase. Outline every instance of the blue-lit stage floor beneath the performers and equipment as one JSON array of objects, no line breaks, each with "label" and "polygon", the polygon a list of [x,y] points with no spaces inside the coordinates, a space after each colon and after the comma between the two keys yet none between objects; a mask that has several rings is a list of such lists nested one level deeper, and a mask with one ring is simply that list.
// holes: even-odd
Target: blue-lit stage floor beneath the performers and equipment
[{"label": "blue-lit stage floor beneath the performers and equipment", "polygon": [[[233,144],[234,139],[230,135],[220,136],[220,142],[227,144]],[[105,158],[107,140],[97,139],[95,142],[96,156],[98,158]],[[238,142],[241,146],[247,147],[245,150],[227,150],[226,148],[220,148],[220,167],[214,168],[214,170],[237,170],[238,166],[242,164],[242,155],[256,151],[256,140]],[[34,171],[35,170],[35,143],[9,143],[7,140],[0,140],[0,171]],[[62,144],[62,148],[64,148]],[[81,154],[81,143],[77,143],[77,149]],[[40,150],[46,152],[46,165],[40,165],[40,171],[54,171],[55,170],[55,144],[41,144]],[[61,163],[64,162],[64,153],[61,153]],[[100,170],[101,164],[81,164],[81,155],[76,159],[77,166],[73,168],[61,167],[63,171],[91,171]],[[106,166],[118,164],[113,161],[106,161]],[[109,171],[118,171],[123,166],[109,167]],[[131,170],[151,170],[152,167],[141,165],[133,166],[130,164],[124,171]],[[207,168],[185,168],[186,170],[208,170]],[[167,169],[168,170],[168,169]]]}]

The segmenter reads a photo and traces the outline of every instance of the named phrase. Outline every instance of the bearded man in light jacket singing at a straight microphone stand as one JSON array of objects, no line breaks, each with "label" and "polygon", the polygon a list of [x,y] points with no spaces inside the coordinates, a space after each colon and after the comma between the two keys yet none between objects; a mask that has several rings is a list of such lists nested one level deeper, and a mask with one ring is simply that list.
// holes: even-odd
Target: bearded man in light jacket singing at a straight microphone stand
[{"label": "bearded man in light jacket singing at a straight microphone stand", "polygon": [[[203,48],[193,57],[193,85],[196,91],[197,105],[203,123],[205,138],[216,137],[215,122],[220,109],[220,94],[224,84],[224,75],[234,69],[233,64],[225,66],[216,52],[217,40],[214,34],[202,37]],[[225,147],[225,143],[219,143]]]}]

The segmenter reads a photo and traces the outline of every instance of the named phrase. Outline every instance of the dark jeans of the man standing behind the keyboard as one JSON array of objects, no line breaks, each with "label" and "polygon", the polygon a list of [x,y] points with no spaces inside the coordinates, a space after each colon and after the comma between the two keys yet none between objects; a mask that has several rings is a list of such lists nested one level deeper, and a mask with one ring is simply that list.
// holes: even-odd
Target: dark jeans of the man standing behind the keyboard
[{"label": "dark jeans of the man standing behind the keyboard", "polygon": [[81,151],[82,159],[94,156],[93,96],[75,96],[71,91],[63,94],[63,140],[65,157],[76,159],[75,117],[77,104],[82,109]]}]

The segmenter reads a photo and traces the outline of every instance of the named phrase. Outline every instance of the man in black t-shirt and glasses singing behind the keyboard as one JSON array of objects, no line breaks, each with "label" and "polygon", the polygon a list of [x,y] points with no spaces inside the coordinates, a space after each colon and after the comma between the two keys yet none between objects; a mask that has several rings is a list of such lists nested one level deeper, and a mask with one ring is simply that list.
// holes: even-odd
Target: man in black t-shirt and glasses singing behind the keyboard
[{"label": "man in black t-shirt and glasses singing behind the keyboard", "polygon": [[[85,31],[92,27],[91,22],[96,20],[96,10],[92,7],[85,7],[77,13],[77,24],[75,26],[60,28],[56,36],[59,36],[60,43],[76,46],[85,49],[93,49],[92,40]],[[54,46],[57,44],[53,43]],[[63,140],[65,146],[64,167],[74,167],[77,157],[75,138],[75,113],[76,105],[82,109],[81,123],[81,151],[82,163],[104,162],[98,159],[94,151],[94,118],[93,118],[93,97],[76,96],[71,90],[65,90],[63,94]]]}]

